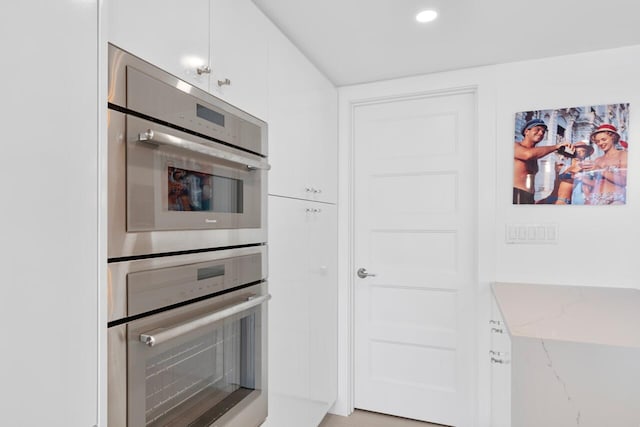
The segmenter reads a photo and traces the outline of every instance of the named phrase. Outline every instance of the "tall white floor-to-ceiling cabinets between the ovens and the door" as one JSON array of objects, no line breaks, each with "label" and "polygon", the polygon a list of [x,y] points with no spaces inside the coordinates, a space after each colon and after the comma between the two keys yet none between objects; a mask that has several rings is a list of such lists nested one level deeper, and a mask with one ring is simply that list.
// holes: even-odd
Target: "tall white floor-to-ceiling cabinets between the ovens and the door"
[{"label": "tall white floor-to-ceiling cabinets between the ovens and the door", "polygon": [[268,49],[265,426],[315,427],[337,394],[337,90],[273,24]]}]

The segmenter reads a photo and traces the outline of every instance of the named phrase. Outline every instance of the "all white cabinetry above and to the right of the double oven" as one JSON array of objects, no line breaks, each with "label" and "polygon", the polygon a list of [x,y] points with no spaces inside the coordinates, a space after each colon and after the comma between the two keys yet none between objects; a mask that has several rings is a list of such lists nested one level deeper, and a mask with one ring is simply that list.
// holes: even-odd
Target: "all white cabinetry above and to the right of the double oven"
[{"label": "all white cabinetry above and to the right of the double oven", "polygon": [[337,89],[250,0],[107,7],[110,42],[269,124],[267,424],[316,426],[337,393]]}]

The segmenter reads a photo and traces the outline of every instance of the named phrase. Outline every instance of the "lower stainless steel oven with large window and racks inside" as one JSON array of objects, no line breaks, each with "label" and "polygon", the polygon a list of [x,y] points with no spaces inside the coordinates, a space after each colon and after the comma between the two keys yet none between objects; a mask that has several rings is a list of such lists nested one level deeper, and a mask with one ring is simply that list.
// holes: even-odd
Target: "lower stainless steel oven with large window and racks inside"
[{"label": "lower stainless steel oven with large window and racks inside", "polygon": [[267,416],[263,246],[109,264],[109,427]]}]

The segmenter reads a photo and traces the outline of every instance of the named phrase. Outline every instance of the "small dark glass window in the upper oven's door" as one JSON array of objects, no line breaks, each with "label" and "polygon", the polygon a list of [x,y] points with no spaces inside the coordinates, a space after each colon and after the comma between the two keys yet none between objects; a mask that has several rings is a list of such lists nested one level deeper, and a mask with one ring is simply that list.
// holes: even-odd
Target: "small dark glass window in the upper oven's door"
[{"label": "small dark glass window in the upper oven's door", "polygon": [[242,181],[168,167],[170,211],[242,213]]}]

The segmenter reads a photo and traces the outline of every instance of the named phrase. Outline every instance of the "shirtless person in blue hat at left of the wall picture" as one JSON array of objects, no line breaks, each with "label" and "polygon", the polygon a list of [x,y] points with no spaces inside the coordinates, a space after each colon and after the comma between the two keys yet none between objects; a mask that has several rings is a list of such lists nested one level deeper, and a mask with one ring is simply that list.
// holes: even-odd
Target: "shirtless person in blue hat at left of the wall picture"
[{"label": "shirtless person in blue hat at left of the wall picture", "polygon": [[547,125],[542,119],[529,120],[521,132],[522,141],[516,141],[513,154],[513,204],[534,204],[535,176],[538,173],[538,159],[567,147],[573,147],[568,142],[555,145],[537,147],[547,133]]}]

